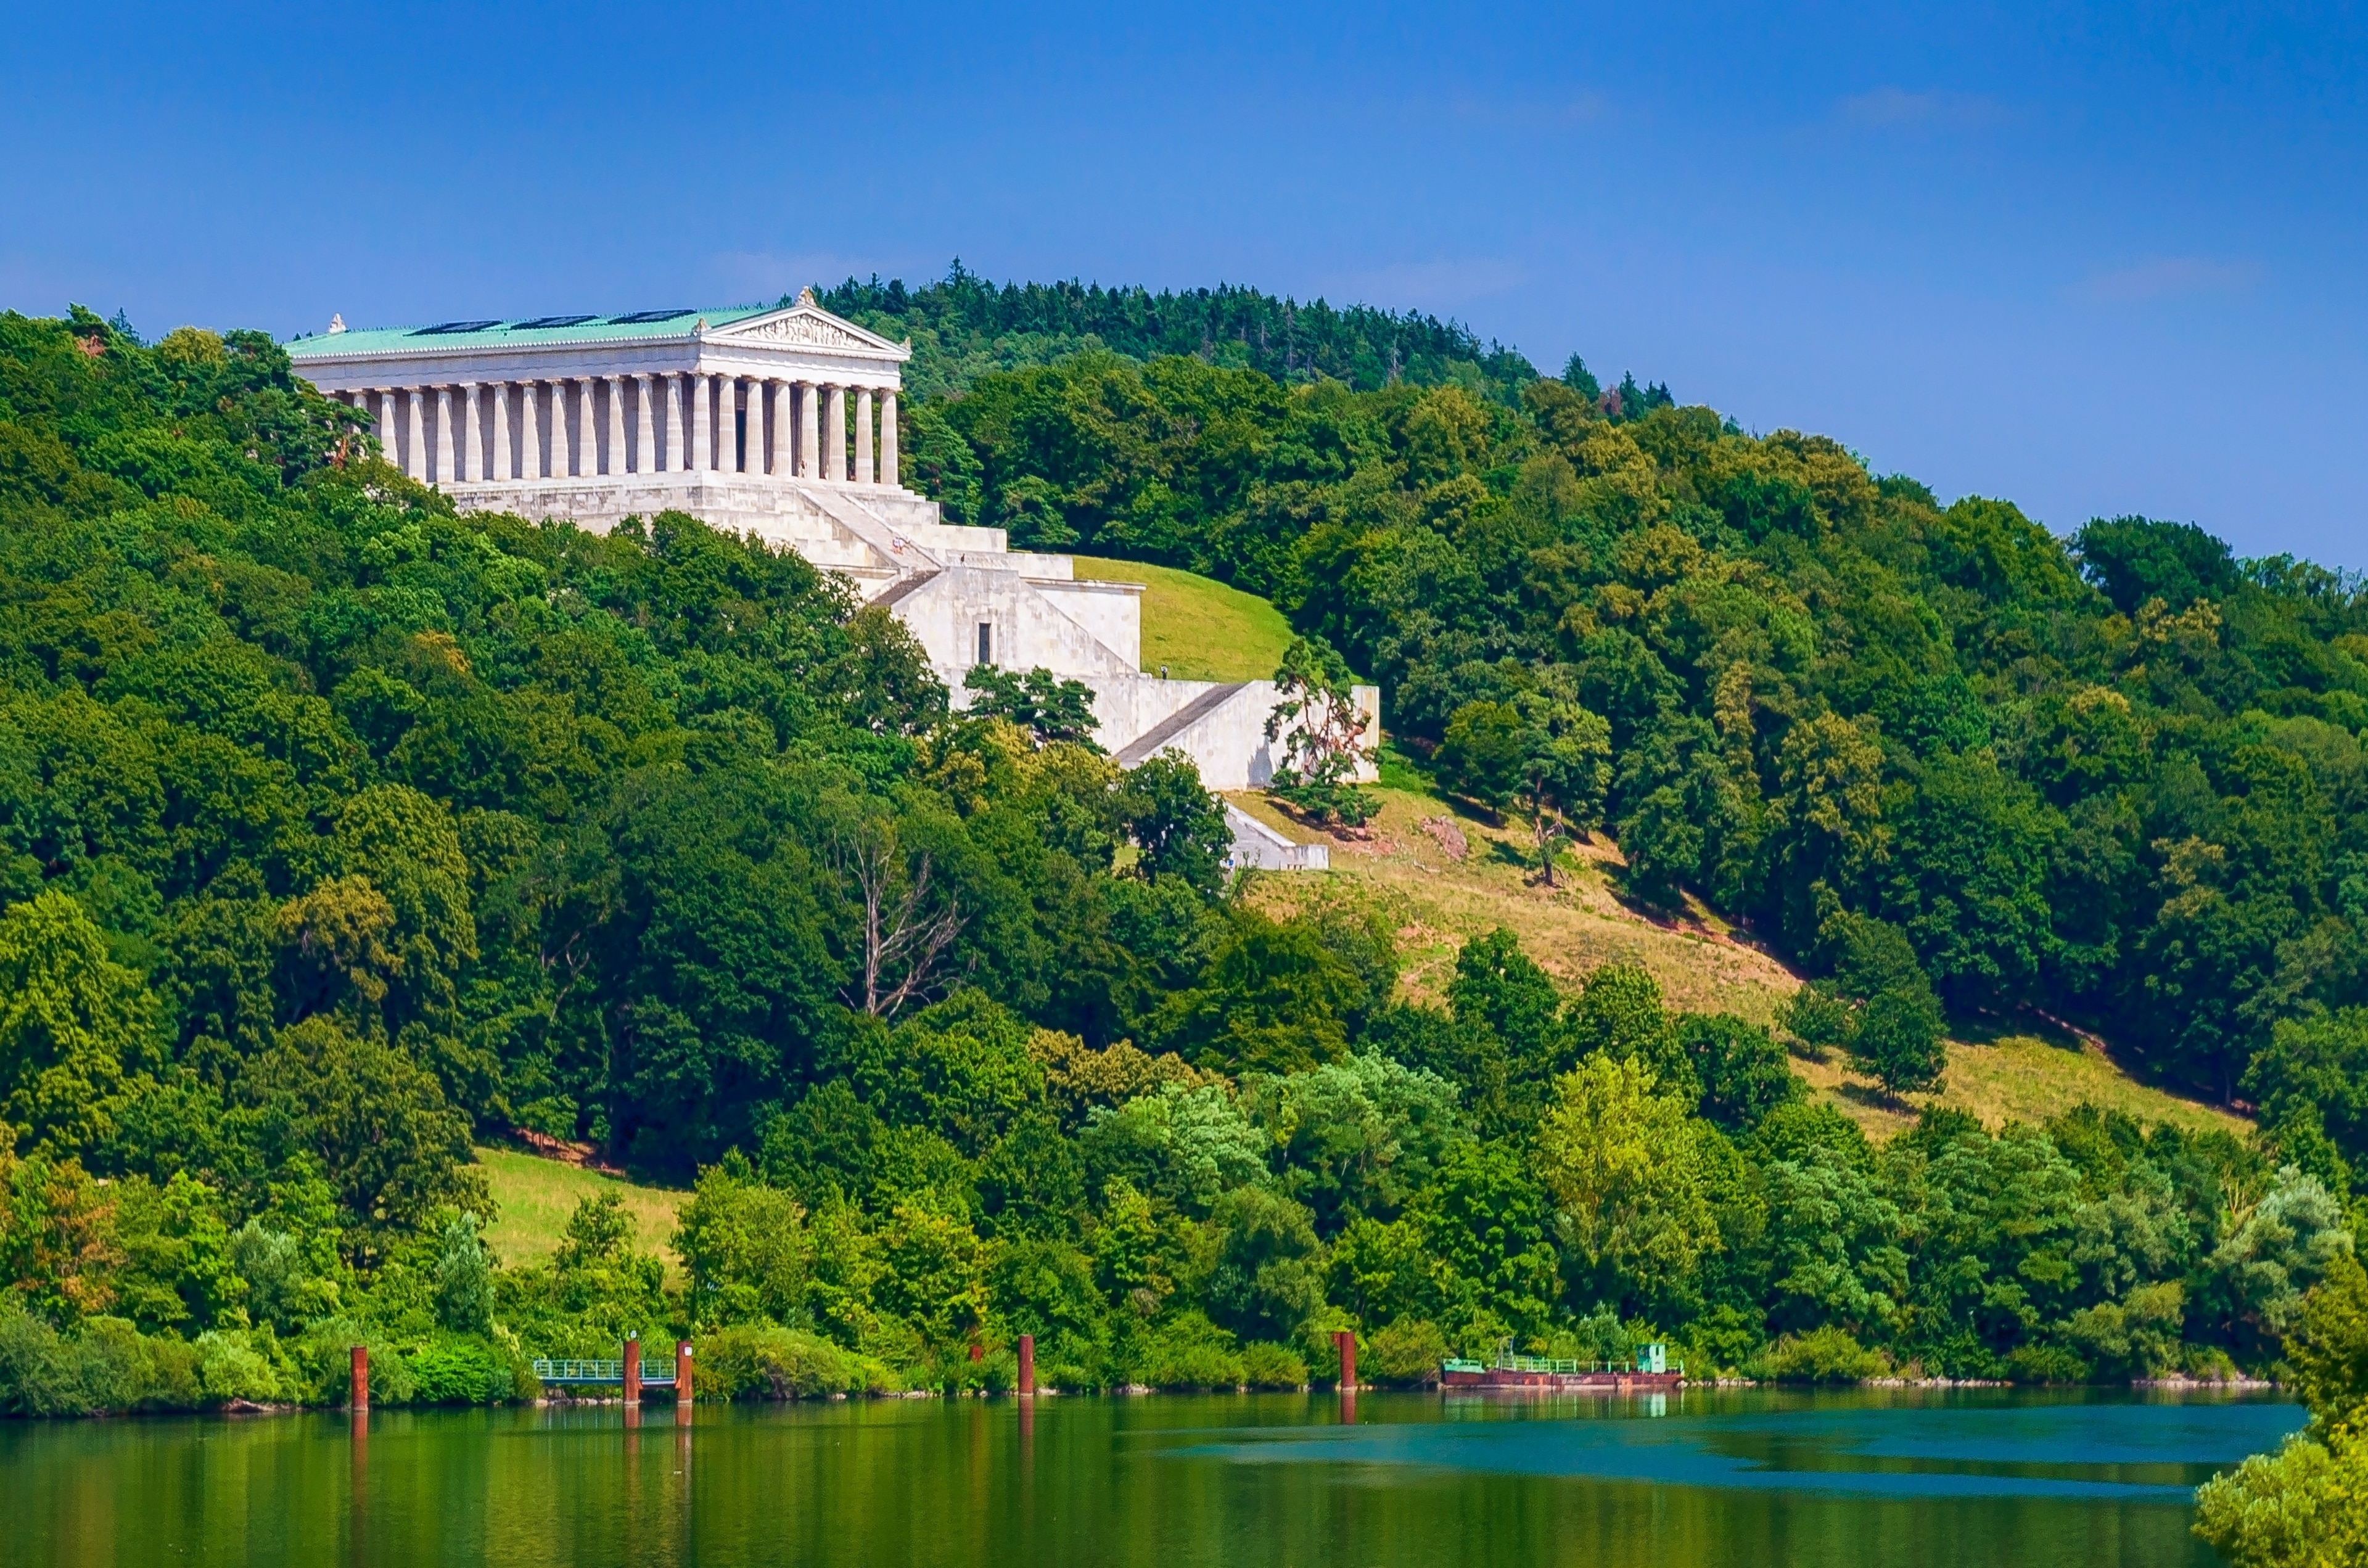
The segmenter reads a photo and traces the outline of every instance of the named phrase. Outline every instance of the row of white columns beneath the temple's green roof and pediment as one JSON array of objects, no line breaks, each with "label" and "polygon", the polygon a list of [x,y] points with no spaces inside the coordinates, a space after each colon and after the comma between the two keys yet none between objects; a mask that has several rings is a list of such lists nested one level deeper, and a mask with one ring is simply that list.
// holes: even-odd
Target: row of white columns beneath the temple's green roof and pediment
[{"label": "row of white columns beneath the temple's green roof and pediment", "polygon": [[869,386],[701,372],[374,386],[346,396],[377,419],[388,462],[429,483],[668,471],[897,483],[893,386],[879,391],[876,407]]}]

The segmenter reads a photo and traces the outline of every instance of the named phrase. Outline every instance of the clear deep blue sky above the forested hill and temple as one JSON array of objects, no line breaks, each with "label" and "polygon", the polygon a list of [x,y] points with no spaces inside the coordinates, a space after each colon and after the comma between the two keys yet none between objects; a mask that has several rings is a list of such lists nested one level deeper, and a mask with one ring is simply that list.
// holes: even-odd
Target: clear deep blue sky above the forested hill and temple
[{"label": "clear deep blue sky above the forested hill and temple", "polygon": [[2368,566],[2361,7],[17,0],[0,306],[320,329],[848,272],[1582,351],[2065,531]]}]

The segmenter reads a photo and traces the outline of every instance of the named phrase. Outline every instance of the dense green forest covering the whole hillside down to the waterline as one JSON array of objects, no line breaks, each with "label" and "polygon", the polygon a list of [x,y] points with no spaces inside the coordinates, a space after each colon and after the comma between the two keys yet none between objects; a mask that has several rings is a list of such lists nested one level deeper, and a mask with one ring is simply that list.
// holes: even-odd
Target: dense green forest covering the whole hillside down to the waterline
[{"label": "dense green forest covering the whole hillside down to the waterline", "polygon": [[[1409,317],[1293,308],[1269,374],[1248,291],[874,294],[1101,339],[916,358],[909,483],[1274,597],[1442,786],[1816,973],[1790,1045],[1913,1085],[2044,1007],[2264,1135],[1875,1146],[1788,1040],[1508,933],[1421,1004],[1352,886],[1227,883],[1186,760],[952,713],[793,554],[457,516],[260,334],[5,315],[0,1405],[329,1397],[350,1343],[493,1400],[689,1329],[710,1393],[997,1386],[1021,1331],[1068,1388],[1324,1379],[1336,1326],[1385,1381],[2278,1364],[2368,1170],[2349,580]],[[488,1255],[469,1146],[523,1132],[694,1180],[684,1277],[601,1203]]]}]

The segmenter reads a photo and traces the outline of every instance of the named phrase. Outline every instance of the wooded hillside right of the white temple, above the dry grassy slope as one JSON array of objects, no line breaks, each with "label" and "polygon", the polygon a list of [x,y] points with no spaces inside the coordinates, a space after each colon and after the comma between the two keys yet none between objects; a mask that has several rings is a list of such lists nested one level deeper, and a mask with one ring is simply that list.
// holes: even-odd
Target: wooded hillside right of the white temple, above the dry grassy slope
[{"label": "wooded hillside right of the white temple, above the dry grassy slope", "polygon": [[914,407],[905,450],[1016,545],[1272,597],[1381,680],[1404,746],[1461,725],[1475,796],[1518,793],[1525,708],[1606,720],[1596,805],[1646,902],[1703,898],[1859,990],[1899,969],[2074,1018],[2330,1177],[2368,1156],[2356,578],[2174,521],[2058,538],[1572,379],[1494,400],[1085,353]]}]

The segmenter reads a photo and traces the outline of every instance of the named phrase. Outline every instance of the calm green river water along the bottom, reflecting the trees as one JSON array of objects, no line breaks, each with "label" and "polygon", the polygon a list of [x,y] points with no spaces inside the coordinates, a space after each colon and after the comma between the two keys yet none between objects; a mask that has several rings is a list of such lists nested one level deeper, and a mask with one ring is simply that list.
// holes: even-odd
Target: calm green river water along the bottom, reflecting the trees
[{"label": "calm green river water along the bottom, reflecting the trees", "polygon": [[895,1400],[0,1426],[0,1563],[2209,1563],[2292,1405]]}]

